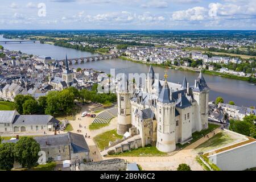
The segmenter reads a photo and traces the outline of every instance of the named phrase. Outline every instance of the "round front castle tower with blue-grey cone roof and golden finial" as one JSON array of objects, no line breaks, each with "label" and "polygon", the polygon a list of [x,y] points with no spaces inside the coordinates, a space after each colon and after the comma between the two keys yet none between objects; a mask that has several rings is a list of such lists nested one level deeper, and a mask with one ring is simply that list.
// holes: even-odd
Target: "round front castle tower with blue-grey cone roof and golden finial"
[{"label": "round front castle tower with blue-grey cone roof and golden finial", "polygon": [[157,105],[157,141],[156,148],[162,152],[176,149],[175,142],[175,102],[172,100],[171,90],[166,81],[158,97]]}]

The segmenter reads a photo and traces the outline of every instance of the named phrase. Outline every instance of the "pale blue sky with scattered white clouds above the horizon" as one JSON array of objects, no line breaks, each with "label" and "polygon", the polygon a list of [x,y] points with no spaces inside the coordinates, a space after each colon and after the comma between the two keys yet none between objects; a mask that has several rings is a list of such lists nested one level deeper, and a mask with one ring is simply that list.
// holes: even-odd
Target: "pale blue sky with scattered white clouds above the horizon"
[{"label": "pale blue sky with scattered white clouds above the horizon", "polygon": [[0,30],[256,30],[256,0],[1,0]]}]

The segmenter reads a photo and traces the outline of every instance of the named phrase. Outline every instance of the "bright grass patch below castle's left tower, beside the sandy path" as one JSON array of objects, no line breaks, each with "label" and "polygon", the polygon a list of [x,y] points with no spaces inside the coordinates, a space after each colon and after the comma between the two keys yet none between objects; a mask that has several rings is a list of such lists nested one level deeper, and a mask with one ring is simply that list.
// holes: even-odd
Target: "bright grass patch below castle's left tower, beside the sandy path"
[{"label": "bright grass patch below castle's left tower, beside the sandy path", "polygon": [[117,134],[117,130],[106,131],[105,133],[99,134],[93,138],[100,150],[104,150],[105,147],[109,146],[109,142],[114,142],[117,139],[122,139],[122,135]]}]

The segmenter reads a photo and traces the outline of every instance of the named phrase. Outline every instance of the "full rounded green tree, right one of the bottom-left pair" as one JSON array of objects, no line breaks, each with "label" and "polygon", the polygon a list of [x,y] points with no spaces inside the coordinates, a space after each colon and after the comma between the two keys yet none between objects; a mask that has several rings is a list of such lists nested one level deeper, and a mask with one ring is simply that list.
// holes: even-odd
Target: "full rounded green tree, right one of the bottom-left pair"
[{"label": "full rounded green tree, right one of the bottom-left pair", "polygon": [[31,168],[38,161],[40,145],[32,137],[23,137],[14,146],[14,156],[22,167]]}]

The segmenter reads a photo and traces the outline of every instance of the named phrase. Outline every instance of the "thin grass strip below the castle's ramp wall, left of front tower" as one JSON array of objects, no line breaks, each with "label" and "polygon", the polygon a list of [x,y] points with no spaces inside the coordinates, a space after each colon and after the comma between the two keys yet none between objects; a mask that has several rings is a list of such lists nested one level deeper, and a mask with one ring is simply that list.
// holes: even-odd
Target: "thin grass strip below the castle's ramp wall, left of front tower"
[{"label": "thin grass strip below the castle's ramp wall, left of front tower", "polygon": [[113,154],[109,156],[164,156],[166,152],[159,151],[155,146],[145,146],[131,151],[125,151],[120,154]]}]

